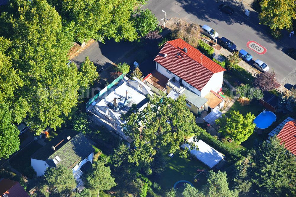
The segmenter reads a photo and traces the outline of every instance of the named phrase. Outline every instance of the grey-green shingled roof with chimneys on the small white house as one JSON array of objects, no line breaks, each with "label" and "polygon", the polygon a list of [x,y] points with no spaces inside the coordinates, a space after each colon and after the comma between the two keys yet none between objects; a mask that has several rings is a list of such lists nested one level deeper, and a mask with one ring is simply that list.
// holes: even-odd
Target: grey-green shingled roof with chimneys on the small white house
[{"label": "grey-green shingled roof with chimneys on the small white house", "polygon": [[[67,140],[68,136],[71,137],[69,141]],[[56,150],[53,151],[52,146],[56,145]],[[94,148],[83,134],[72,130],[66,130],[54,137],[54,139],[48,142],[44,147],[37,150],[31,158],[46,161],[49,166],[63,165],[72,169],[92,152],[94,152]],[[61,161],[54,164],[52,159],[56,156],[59,156]]]}]

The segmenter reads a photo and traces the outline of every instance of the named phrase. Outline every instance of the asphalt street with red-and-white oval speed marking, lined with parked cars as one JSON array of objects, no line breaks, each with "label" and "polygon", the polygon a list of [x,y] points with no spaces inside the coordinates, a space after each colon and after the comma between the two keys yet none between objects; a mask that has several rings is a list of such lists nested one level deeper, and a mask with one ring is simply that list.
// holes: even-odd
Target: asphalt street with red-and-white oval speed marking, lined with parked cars
[{"label": "asphalt street with red-and-white oval speed marking, lined with parked cars", "polygon": [[[159,19],[178,17],[189,23],[208,25],[222,36],[233,41],[237,49],[244,49],[253,56],[253,60],[264,61],[272,71],[274,69],[277,80],[289,88],[296,84],[296,61],[284,52],[296,45],[296,36],[289,39],[288,33],[283,31],[281,40],[275,41],[268,33],[268,28],[258,24],[258,13],[250,12],[250,17],[241,11],[241,4],[237,1],[225,1],[232,5],[235,13],[231,16],[219,11],[218,6],[223,1],[214,0],[149,0],[143,9],[150,9]],[[163,24],[163,20],[160,21]],[[255,41],[265,47],[267,52],[259,55],[247,48],[248,41]]]}]

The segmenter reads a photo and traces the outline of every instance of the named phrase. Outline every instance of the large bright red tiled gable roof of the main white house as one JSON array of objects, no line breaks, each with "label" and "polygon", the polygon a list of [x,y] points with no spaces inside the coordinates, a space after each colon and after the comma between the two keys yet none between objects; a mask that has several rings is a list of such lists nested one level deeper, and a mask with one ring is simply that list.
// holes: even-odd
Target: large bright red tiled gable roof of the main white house
[{"label": "large bright red tiled gable roof of the main white house", "polygon": [[[184,47],[187,53],[183,51]],[[226,71],[182,39],[168,41],[154,61],[198,90],[202,90],[214,73]]]}]

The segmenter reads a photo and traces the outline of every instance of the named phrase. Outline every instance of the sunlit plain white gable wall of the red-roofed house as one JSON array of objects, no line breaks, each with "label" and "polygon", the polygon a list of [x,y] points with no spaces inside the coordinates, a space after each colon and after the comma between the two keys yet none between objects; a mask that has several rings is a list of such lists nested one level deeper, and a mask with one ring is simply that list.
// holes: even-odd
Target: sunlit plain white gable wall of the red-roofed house
[{"label": "sunlit plain white gable wall of the red-roofed house", "polygon": [[218,89],[222,87],[222,82],[223,71],[219,73],[214,73],[210,80],[207,82],[207,84],[202,88],[200,96],[204,97],[205,95],[207,95],[207,93],[210,92],[210,90],[217,92]]}]

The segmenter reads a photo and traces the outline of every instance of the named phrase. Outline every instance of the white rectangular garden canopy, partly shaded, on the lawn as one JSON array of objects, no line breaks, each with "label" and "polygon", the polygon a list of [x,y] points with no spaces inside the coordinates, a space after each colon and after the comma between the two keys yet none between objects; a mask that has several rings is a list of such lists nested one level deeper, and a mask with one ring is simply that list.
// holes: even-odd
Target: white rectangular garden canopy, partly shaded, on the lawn
[{"label": "white rectangular garden canopy, partly shaded, on the lawn", "polygon": [[[188,142],[193,142],[193,138],[190,138]],[[195,156],[198,160],[200,160],[202,163],[206,164],[210,168],[213,168],[225,157],[222,155],[222,153],[219,153],[217,150],[210,147],[202,140],[195,142],[195,145],[199,148],[199,150],[191,149],[190,145],[187,143],[182,144],[181,147],[187,147],[193,156]]]}]

